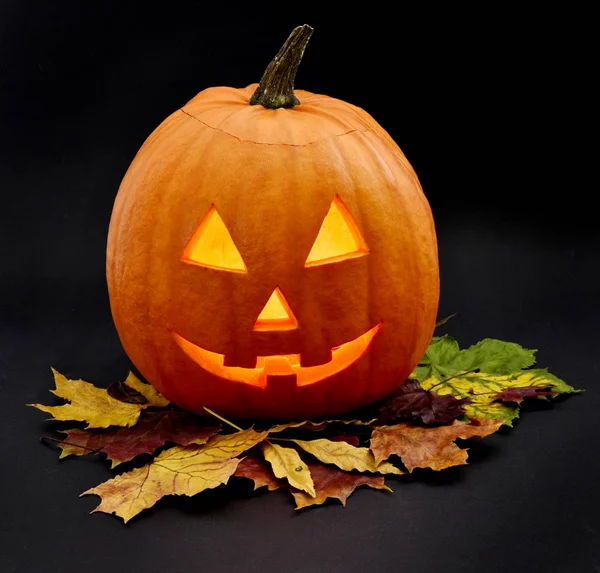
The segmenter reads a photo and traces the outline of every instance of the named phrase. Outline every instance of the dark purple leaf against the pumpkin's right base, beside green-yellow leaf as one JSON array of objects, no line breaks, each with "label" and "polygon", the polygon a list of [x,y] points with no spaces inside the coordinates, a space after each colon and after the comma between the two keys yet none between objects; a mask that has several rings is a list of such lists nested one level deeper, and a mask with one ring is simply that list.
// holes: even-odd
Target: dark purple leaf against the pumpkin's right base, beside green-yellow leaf
[{"label": "dark purple leaf against the pumpkin's right base, beside green-yellow leaf", "polygon": [[469,398],[459,399],[453,394],[427,392],[418,380],[409,379],[385,400],[378,422],[390,423],[396,418],[421,418],[424,424],[450,422],[465,413],[468,402]]}]

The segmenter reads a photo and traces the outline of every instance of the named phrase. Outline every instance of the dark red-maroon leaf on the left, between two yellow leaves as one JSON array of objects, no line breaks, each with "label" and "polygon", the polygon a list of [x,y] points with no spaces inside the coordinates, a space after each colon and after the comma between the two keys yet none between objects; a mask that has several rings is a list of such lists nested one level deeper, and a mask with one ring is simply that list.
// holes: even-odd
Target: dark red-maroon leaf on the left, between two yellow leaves
[{"label": "dark red-maroon leaf on the left, between two yellow leaves", "polygon": [[61,458],[102,452],[114,468],[140,454],[151,454],[167,442],[179,446],[204,444],[219,428],[200,425],[185,412],[145,412],[132,428],[108,430],[66,430]]}]

